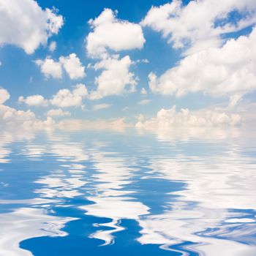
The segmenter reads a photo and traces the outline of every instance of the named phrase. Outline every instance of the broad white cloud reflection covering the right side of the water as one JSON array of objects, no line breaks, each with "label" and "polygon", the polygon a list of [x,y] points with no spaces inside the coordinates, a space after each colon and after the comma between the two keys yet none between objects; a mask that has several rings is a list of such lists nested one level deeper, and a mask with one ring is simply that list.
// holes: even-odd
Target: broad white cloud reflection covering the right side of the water
[{"label": "broad white cloud reflection covering the right side of the water", "polygon": [[164,244],[162,248],[170,250],[176,244],[191,241],[195,244],[184,247],[207,256],[255,255],[255,241],[241,243],[243,236],[255,233],[255,219],[239,212],[256,206],[253,162],[254,159],[242,156],[234,145],[219,156],[180,154],[152,160],[151,178],[158,175],[170,181],[182,181],[187,187],[170,193],[179,197],[167,203],[162,214],[140,218],[143,229],[138,241]]}]

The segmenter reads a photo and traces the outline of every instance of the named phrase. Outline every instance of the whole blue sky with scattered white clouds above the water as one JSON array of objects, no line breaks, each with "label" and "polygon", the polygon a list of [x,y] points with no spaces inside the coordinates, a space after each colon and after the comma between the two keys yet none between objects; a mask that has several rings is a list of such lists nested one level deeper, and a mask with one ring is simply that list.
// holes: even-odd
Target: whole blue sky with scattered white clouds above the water
[{"label": "whole blue sky with scattered white clouds above the water", "polygon": [[252,121],[255,23],[255,0],[0,0],[0,127]]}]

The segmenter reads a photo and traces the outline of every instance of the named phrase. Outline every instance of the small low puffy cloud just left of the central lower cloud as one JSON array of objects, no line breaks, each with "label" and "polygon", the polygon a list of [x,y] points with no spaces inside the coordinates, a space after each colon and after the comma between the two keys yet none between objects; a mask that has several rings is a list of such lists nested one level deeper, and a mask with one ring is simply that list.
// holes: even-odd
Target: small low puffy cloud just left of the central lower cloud
[{"label": "small low puffy cloud just left of the central lower cloud", "polygon": [[88,97],[86,86],[79,83],[72,91],[69,89],[59,90],[57,94],[53,95],[53,99],[50,99],[50,103],[60,108],[79,107],[86,97]]}]

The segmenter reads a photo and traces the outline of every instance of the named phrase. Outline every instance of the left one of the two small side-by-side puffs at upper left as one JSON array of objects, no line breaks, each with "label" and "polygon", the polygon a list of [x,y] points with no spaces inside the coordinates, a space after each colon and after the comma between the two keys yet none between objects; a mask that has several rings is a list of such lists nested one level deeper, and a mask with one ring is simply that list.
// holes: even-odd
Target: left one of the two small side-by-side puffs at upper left
[{"label": "left one of the two small side-by-side puffs at upper left", "polygon": [[46,78],[62,78],[61,63],[53,61],[53,59],[46,58],[45,60],[37,59],[36,64],[40,67],[41,72]]}]

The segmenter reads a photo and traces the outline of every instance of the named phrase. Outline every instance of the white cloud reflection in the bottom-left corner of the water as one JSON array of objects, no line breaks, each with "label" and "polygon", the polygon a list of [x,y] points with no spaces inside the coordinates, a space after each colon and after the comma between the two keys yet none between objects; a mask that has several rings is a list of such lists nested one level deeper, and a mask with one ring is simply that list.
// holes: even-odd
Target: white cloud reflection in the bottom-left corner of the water
[{"label": "white cloud reflection in the bottom-left corner of the water", "polygon": [[61,228],[75,218],[54,217],[41,208],[18,208],[0,214],[0,255],[31,256],[19,247],[20,241],[39,236],[67,236]]}]

